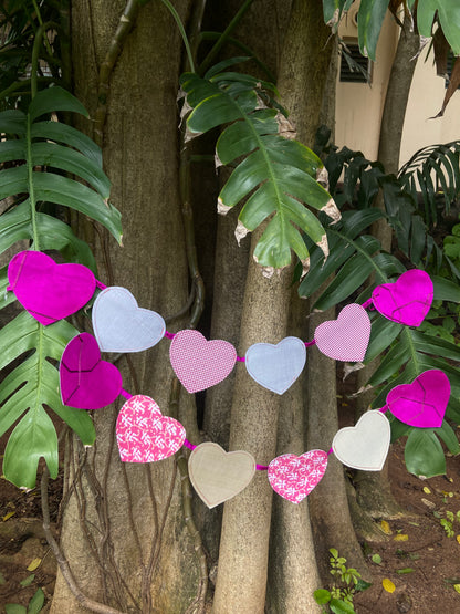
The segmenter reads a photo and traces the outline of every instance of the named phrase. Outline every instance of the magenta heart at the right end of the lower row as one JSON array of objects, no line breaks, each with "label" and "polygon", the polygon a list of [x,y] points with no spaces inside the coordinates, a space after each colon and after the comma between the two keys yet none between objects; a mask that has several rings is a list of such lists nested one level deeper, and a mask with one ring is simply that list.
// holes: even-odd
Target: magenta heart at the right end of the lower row
[{"label": "magenta heart at the right end of the lower row", "polygon": [[450,397],[450,382],[446,373],[425,371],[411,384],[401,384],[388,393],[387,406],[401,423],[419,428],[442,425]]}]

